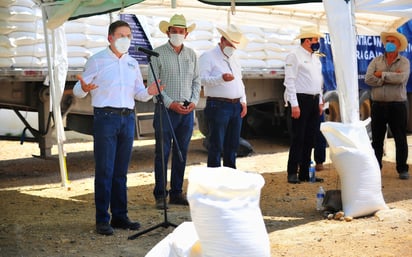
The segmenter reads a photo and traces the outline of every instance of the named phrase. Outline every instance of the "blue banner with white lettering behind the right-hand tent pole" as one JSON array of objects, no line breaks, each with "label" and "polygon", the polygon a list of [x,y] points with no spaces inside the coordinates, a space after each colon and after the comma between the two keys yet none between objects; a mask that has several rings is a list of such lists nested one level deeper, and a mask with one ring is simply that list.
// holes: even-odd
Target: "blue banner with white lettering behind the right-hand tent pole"
[{"label": "blue banner with white lettering behind the right-hand tent pole", "polygon": [[[405,23],[398,29],[398,32],[404,34],[408,39],[408,47],[401,55],[407,57],[411,62],[412,74],[412,20]],[[335,68],[333,65],[333,56],[331,50],[331,42],[329,34],[321,39],[320,52],[324,53],[326,57],[321,58],[322,72],[325,80],[325,91],[336,90]],[[369,89],[365,84],[365,74],[369,63],[376,56],[384,53],[384,46],[381,42],[380,36],[357,36],[356,54],[358,59],[358,83],[360,89]],[[407,91],[412,92],[412,75],[409,76]]]}]

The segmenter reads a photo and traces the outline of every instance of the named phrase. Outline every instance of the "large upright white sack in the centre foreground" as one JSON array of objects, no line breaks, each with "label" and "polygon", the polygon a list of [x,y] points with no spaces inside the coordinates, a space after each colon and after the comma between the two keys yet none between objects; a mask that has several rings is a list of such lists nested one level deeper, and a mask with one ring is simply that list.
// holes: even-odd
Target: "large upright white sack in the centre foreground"
[{"label": "large upright white sack in the centre foreground", "polygon": [[189,174],[187,198],[202,257],[269,257],[269,237],[259,207],[264,179],[231,168]]}]

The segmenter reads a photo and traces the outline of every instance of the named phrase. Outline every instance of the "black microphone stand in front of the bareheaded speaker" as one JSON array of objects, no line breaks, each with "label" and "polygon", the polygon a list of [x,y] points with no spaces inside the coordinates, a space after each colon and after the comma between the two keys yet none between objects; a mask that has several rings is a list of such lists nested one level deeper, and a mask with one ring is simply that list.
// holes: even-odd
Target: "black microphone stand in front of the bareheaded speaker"
[{"label": "black microphone stand in front of the bareheaded speaker", "polygon": [[[148,52],[145,52],[146,54],[148,54]],[[159,56],[159,54],[158,53],[155,53],[155,52],[151,52],[150,51],[150,53],[154,53],[154,54],[152,54],[152,55],[155,55],[155,54],[157,54],[157,55],[155,55],[155,56]],[[153,65],[152,65],[152,63],[151,63],[151,61],[150,61],[150,55],[148,55],[148,59],[149,59],[149,65],[150,65],[150,70],[152,71],[152,74],[153,74],[153,79],[154,79],[154,81],[156,82],[156,86],[157,86],[157,90],[158,90],[158,92],[160,92],[160,86],[159,86],[159,82],[157,81],[157,78],[156,78],[156,74],[154,73],[154,70],[153,70]],[[179,154],[179,160],[180,161],[183,161],[183,157],[182,157],[182,152],[180,151],[180,147],[179,147],[179,144],[178,144],[178,142],[177,142],[177,139],[176,139],[176,135],[175,135],[175,133],[174,133],[174,131],[173,131],[173,126],[172,126],[172,122],[170,121],[170,116],[169,116],[169,113],[167,112],[167,108],[166,108],[166,106],[164,105],[164,102],[163,102],[163,97],[162,97],[162,94],[158,94],[157,96],[156,96],[156,99],[157,99],[157,105],[158,106],[156,106],[156,108],[159,108],[158,110],[159,110],[159,119],[160,119],[160,141],[161,141],[161,152],[162,152],[162,176],[163,176],[163,216],[164,216],[164,221],[162,222],[162,223],[159,223],[159,224],[157,224],[157,225],[155,225],[155,226],[153,226],[153,227],[150,227],[150,228],[148,228],[148,229],[145,229],[145,230],[143,230],[143,231],[141,231],[141,232],[138,232],[138,233],[136,233],[136,234],[134,234],[134,235],[132,235],[132,236],[129,236],[128,237],[128,239],[130,239],[130,240],[132,240],[132,239],[136,239],[137,237],[139,237],[139,236],[141,236],[141,235],[143,235],[143,234],[146,234],[146,233],[148,233],[148,232],[150,232],[150,231],[152,231],[152,230],[155,230],[155,229],[157,229],[157,228],[160,228],[160,227],[163,227],[163,228],[168,228],[168,227],[170,227],[170,226],[172,226],[172,227],[177,227],[177,225],[175,225],[175,224],[173,224],[173,223],[170,223],[168,220],[167,220],[167,205],[166,205],[166,185],[167,185],[167,170],[166,170],[166,164],[165,164],[165,157],[164,157],[164,136],[163,136],[163,112],[166,114],[166,117],[167,117],[167,120],[168,120],[168,122],[169,122],[169,126],[170,126],[170,132],[172,133],[172,137],[173,137],[173,141],[174,141],[174,144],[175,144],[175,146],[176,146],[176,149],[177,149],[177,152],[178,152],[178,154]]]}]

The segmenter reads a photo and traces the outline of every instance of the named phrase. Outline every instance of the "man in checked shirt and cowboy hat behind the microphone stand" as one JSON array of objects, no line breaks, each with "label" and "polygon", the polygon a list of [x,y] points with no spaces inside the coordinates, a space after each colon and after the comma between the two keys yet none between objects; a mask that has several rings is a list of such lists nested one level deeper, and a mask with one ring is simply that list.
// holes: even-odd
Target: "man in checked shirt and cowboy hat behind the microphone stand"
[{"label": "man in checked shirt and cowboy hat behind the microphone stand", "polygon": [[[167,114],[164,113],[164,108],[160,104],[156,104],[153,120],[156,138],[153,195],[157,209],[164,208],[164,198],[167,196],[169,196],[169,204],[189,204],[182,188],[186,157],[194,126],[193,111],[199,101],[200,77],[196,53],[184,45],[183,42],[194,28],[195,24],[187,26],[185,17],[178,14],[174,15],[169,22],[160,22],[159,29],[168,36],[169,40],[154,49],[159,53],[159,57],[152,58],[156,78],[167,85],[161,94],[164,106],[167,108]],[[151,72],[149,72],[148,81],[154,81]],[[160,112],[163,112],[162,115],[160,115]],[[162,127],[160,127],[160,118],[162,118]],[[177,142],[174,142],[171,130],[174,131]],[[183,160],[179,157],[176,144],[179,146]],[[167,162],[171,150],[170,190],[166,190]],[[166,167],[163,167],[162,160],[165,161],[164,165]],[[163,168],[166,174],[163,173]]]}]

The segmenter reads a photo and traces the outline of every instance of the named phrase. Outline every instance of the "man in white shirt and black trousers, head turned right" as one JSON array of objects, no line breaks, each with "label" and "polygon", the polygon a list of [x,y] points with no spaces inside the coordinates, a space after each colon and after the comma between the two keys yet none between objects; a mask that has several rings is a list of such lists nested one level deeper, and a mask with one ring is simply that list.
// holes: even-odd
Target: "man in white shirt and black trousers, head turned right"
[{"label": "man in white shirt and black trousers, head turned right", "polygon": [[[291,143],[287,166],[287,181],[298,184],[309,181],[309,166],[319,119],[323,111],[322,64],[318,55],[317,27],[302,27],[296,39],[300,46],[289,53],[285,61],[286,97],[291,112]],[[323,179],[315,178],[316,182]]]}]

